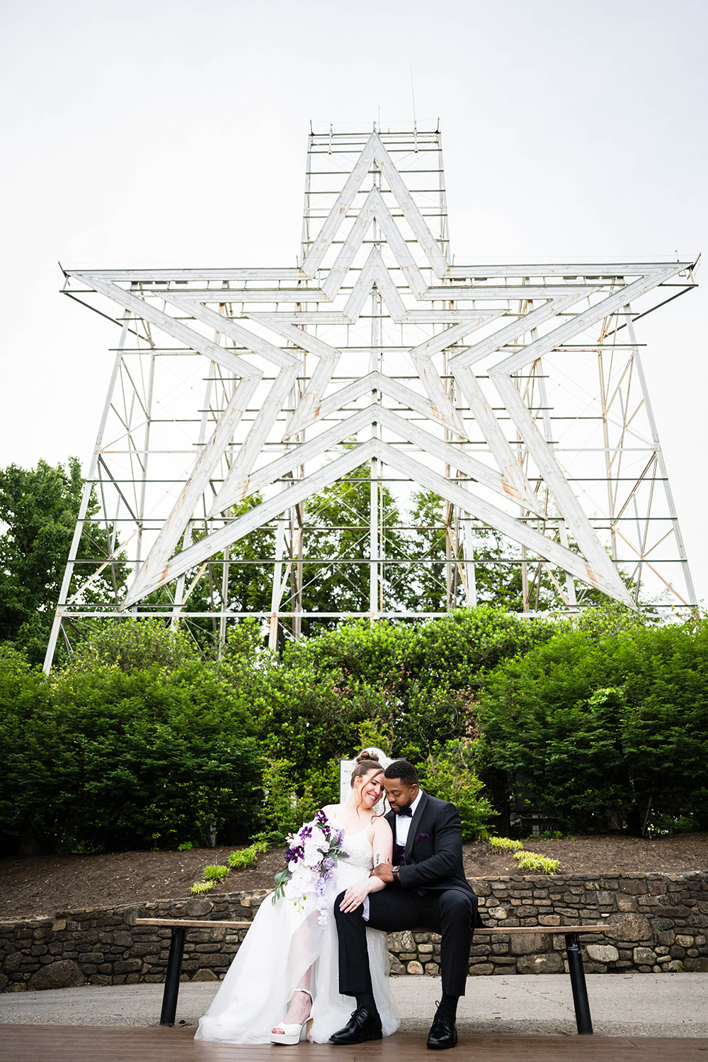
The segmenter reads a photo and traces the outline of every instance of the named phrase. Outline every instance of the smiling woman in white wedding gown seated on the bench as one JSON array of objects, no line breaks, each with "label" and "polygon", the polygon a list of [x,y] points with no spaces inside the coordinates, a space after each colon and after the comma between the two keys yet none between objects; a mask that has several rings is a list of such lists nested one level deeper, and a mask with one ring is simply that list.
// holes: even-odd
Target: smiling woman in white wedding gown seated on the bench
[{"label": "smiling woman in white wedding gown seated on the bench", "polygon": [[[304,903],[286,897],[273,903],[272,893],[265,896],[213,1003],[200,1018],[195,1040],[295,1044],[308,1025],[309,1039],[326,1043],[349,1021],[351,997],[339,992],[332,908],[343,890],[343,910],[355,910],[367,905],[369,892],[385,888],[380,878],[369,877],[372,868],[391,861],[393,852],[391,826],[374,810],[382,783],[378,756],[363,752],[357,757],[346,802],[323,808],[329,822],[344,832],[340,847],[346,855],[327,884],[329,917],[321,915],[323,904],[317,909],[313,896]],[[386,935],[367,929],[366,940],[374,996],[383,1035],[388,1037],[399,1018],[388,989]]]}]

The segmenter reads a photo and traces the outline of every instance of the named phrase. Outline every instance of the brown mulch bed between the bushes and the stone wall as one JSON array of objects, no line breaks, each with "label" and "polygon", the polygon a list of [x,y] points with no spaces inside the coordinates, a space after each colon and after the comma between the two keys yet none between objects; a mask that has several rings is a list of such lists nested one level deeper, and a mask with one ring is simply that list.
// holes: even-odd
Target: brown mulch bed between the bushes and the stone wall
[{"label": "brown mulch bed between the bushes and the stone wall", "polygon": [[[559,860],[559,874],[660,872],[708,869],[708,835],[680,834],[644,840],[634,837],[572,837],[528,840],[524,847]],[[100,856],[33,856],[0,859],[0,920],[52,915],[61,910],[116,907],[151,900],[180,900],[202,878],[207,863],[226,862],[232,847],[189,852],[117,852]],[[261,856],[252,870],[231,871],[211,891],[270,889],[283,866],[283,850]],[[485,841],[465,845],[469,877],[516,874],[512,853]]]}]

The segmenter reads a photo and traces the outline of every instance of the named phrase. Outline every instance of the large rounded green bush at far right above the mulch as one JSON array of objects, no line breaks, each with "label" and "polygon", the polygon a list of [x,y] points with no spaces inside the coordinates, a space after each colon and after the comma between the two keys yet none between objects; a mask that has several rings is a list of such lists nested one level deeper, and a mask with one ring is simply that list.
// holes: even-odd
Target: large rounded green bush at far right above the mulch
[{"label": "large rounded green bush at far right above the mulch", "polygon": [[489,675],[483,761],[567,830],[638,834],[652,816],[705,828],[708,622],[591,620]]}]

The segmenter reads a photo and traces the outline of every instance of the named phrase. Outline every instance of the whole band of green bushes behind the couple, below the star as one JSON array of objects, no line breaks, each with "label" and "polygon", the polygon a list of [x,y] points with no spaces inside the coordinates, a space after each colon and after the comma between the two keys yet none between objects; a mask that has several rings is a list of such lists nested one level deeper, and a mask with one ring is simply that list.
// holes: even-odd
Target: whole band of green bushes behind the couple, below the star
[{"label": "whole band of green bushes behind the couple, below the star", "polygon": [[416,763],[466,839],[511,791],[570,832],[708,826],[705,619],[481,606],[345,623],[281,660],[258,640],[239,624],[205,662],[161,621],[96,623],[49,679],[0,645],[3,851],[282,841],[367,744]]}]

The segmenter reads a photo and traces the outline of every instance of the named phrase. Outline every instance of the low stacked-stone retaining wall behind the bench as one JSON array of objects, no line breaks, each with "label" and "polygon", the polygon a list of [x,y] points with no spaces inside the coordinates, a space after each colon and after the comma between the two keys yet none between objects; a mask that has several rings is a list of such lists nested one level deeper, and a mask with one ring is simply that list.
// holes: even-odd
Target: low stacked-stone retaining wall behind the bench
[{"label": "low stacked-stone retaining wall behind the bench", "polygon": [[[488,925],[548,927],[542,933],[474,935],[469,973],[560,973],[567,969],[563,925],[607,923],[581,938],[588,973],[708,972],[708,873],[603,874],[470,878]],[[140,907],[63,911],[54,918],[0,923],[0,991],[73,984],[162,981],[170,930],[136,926],[136,918],[253,918],[264,892],[231,893]],[[219,980],[246,930],[187,936],[183,980]],[[439,973],[439,937],[391,933],[393,974]]]}]

